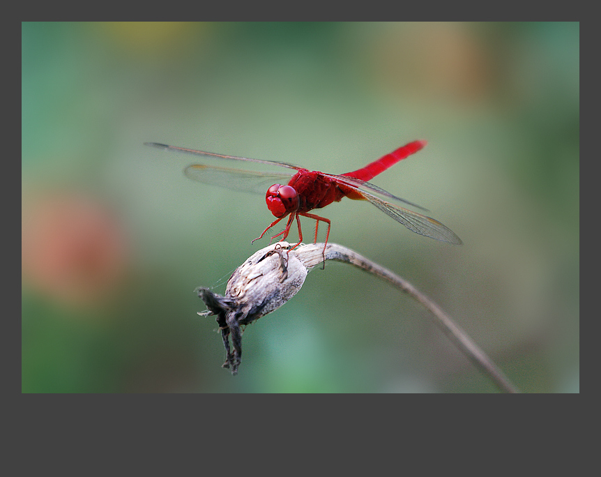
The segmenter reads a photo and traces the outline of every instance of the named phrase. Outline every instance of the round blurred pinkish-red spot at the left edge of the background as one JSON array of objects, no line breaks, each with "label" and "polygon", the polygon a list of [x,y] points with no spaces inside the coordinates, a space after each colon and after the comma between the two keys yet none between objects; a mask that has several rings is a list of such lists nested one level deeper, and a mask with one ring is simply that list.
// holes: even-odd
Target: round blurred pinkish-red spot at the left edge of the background
[{"label": "round blurred pinkish-red spot at the left edge of the background", "polygon": [[126,268],[123,227],[97,199],[50,194],[22,208],[22,276],[32,289],[66,305],[98,303]]}]

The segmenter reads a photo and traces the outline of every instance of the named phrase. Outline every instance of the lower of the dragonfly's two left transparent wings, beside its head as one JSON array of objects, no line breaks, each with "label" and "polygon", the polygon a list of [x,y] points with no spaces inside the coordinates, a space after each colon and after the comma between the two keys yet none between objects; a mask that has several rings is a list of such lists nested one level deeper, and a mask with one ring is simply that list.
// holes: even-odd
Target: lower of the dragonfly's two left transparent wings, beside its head
[{"label": "lower of the dragonfly's two left transparent wings, beside its head", "polygon": [[232,190],[265,194],[275,183],[287,184],[292,174],[270,174],[265,172],[213,167],[193,164],[184,169],[186,177],[209,185],[219,185]]}]

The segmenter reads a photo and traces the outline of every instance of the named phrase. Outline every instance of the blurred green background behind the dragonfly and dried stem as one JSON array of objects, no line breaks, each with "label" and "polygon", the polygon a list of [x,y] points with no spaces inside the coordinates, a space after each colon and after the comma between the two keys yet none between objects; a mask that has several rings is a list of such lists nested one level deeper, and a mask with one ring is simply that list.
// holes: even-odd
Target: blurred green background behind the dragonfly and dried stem
[{"label": "blurred green background behind the dragonfly and dried stem", "polygon": [[373,182],[464,245],[347,199],[320,211],[330,241],[522,391],[579,392],[579,24],[22,24],[22,391],[496,391],[420,305],[337,263],[248,326],[231,377],[193,290],[223,293],[272,216],[142,145],[343,173],[413,139]]}]

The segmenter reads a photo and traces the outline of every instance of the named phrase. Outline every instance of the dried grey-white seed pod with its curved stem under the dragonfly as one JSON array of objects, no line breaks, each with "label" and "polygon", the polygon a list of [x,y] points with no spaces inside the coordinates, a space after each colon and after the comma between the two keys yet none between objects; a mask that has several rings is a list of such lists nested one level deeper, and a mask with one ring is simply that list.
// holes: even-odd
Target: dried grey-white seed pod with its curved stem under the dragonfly
[{"label": "dried grey-white seed pod with its curved stem under the dragonfly", "polygon": [[336,243],[328,243],[325,252],[323,243],[303,244],[294,250],[289,250],[291,247],[292,245],[287,242],[279,242],[256,252],[231,275],[227,282],[225,296],[213,294],[206,288],[197,289],[199,297],[208,308],[206,312],[199,315],[217,315],[227,354],[223,366],[230,368],[232,374],[238,372],[242,356],[241,326],[280,308],[300,290],[307,273],[314,266],[324,262],[325,257],[326,260],[357,266],[390,282],[415,298],[432,313],[434,323],[443,333],[492,379],[501,391],[518,392],[485,352],[434,301],[413,287],[411,283]]}]

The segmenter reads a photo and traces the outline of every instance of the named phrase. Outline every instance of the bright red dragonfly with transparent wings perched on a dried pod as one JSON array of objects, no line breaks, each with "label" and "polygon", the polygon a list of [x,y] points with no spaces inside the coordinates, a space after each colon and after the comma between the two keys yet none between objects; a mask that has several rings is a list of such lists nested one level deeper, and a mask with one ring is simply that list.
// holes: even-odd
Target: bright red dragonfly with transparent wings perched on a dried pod
[{"label": "bright red dragonfly with transparent wings perched on a dried pod", "polygon": [[[374,176],[388,169],[388,167],[395,165],[400,160],[411,156],[411,154],[422,149],[427,144],[425,141],[413,141],[409,144],[405,144],[399,149],[396,149],[390,154],[386,154],[386,156],[371,162],[361,169],[347,172],[342,175],[310,171],[308,169],[303,169],[303,167],[287,164],[286,162],[238,158],[236,156],[225,156],[224,154],[195,151],[194,149],[185,149],[183,147],[167,146],[167,144],[158,144],[156,142],[146,142],[144,144],[158,149],[164,149],[165,151],[192,154],[192,156],[200,158],[256,162],[258,164],[277,165],[278,167],[291,169],[293,172],[288,172],[287,174],[273,174],[243,169],[213,167],[202,164],[193,164],[186,167],[184,171],[185,175],[194,181],[220,185],[234,190],[257,192],[259,190],[265,190],[268,183],[275,182],[267,189],[265,199],[267,208],[275,215],[276,219],[263,231],[261,236],[254,240],[261,239],[271,227],[289,215],[284,230],[271,237],[271,239],[273,240],[277,237],[281,237],[280,241],[285,240],[290,232],[292,223],[296,219],[299,240],[298,243],[294,245],[293,248],[295,248],[303,241],[303,232],[300,230],[299,219],[299,215],[302,215],[303,217],[317,220],[314,243],[317,243],[317,229],[319,227],[319,222],[326,222],[326,224],[328,224],[328,232],[326,233],[327,244],[328,237],[330,236],[330,220],[309,213],[309,211],[321,209],[332,202],[340,202],[342,197],[349,197],[349,199],[367,200],[371,202],[383,213],[390,215],[390,217],[397,220],[397,222],[402,223],[402,225],[411,230],[411,232],[443,242],[455,243],[457,245],[462,243],[461,239],[459,239],[455,233],[445,225],[441,224],[438,220],[434,220],[426,215],[410,211],[409,209],[405,209],[404,207],[395,204],[402,203],[425,211],[426,209],[423,209],[423,207],[405,199],[401,199],[400,197],[396,197],[395,195],[390,194],[390,192],[386,192],[386,190],[379,188],[377,185],[367,182]],[[262,189],[260,189],[261,187]]]}]

